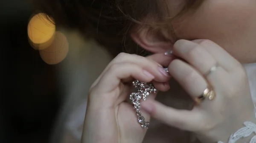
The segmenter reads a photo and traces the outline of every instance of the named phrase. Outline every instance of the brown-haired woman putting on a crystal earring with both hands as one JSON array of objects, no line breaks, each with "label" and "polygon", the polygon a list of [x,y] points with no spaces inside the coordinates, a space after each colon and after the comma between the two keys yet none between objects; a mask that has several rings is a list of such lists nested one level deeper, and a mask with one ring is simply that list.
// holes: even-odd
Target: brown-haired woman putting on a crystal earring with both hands
[{"label": "brown-haired woman putting on a crystal earring with both hands", "polygon": [[[191,110],[189,104],[186,110],[177,110],[155,101],[151,95],[141,104],[145,119],[149,120],[151,115],[169,126],[193,132],[202,143],[256,142],[252,134],[256,132],[255,100],[251,100],[251,96],[256,97],[253,84],[256,69],[254,64],[248,64],[256,62],[255,0],[38,0],[37,3],[57,24],[79,28],[113,55],[123,50],[121,46],[129,53],[140,53],[136,45],[152,53],[147,58],[119,54],[94,82],[82,142],[143,142],[146,129],[138,125],[132,105],[125,102],[128,83],[133,79],[152,81],[158,90],[167,91],[169,75],[197,104]],[[251,89],[241,64],[250,68],[247,73]],[[169,73],[163,67],[168,67]],[[174,86],[171,84],[171,88]],[[204,92],[208,94],[202,100]],[[183,101],[190,103],[188,98],[178,102]],[[180,132],[170,131],[170,134],[176,136]],[[186,133],[183,135],[188,137]],[[154,140],[151,136],[149,141],[146,137],[144,141],[178,143],[158,137]]]}]

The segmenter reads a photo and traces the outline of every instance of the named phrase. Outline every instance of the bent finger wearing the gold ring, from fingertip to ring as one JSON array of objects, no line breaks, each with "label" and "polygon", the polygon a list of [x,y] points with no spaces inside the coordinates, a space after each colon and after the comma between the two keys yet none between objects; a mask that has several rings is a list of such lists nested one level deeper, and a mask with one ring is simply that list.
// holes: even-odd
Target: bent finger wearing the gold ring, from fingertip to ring
[{"label": "bent finger wearing the gold ring, from fingertip to ring", "polygon": [[192,96],[199,97],[207,88],[207,81],[192,66],[175,59],[168,67],[172,77]]}]

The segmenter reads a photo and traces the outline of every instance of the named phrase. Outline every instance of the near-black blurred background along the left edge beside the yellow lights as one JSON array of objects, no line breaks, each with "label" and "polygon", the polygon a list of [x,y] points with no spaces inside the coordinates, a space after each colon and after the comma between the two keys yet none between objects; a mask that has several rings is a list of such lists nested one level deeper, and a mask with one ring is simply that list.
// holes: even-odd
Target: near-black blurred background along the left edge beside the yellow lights
[{"label": "near-black blurred background along the left edge beside the yellow lights", "polygon": [[61,103],[58,66],[28,43],[29,0],[1,0],[0,143],[47,143]]}]

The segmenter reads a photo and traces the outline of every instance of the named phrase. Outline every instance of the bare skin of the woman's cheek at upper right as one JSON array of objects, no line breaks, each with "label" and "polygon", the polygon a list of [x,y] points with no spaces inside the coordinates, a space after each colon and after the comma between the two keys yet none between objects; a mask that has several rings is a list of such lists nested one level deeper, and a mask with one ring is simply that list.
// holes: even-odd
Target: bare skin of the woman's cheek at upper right
[{"label": "bare skin of the woman's cheek at upper right", "polygon": [[179,39],[210,39],[240,62],[256,62],[255,0],[205,0],[173,26]]}]

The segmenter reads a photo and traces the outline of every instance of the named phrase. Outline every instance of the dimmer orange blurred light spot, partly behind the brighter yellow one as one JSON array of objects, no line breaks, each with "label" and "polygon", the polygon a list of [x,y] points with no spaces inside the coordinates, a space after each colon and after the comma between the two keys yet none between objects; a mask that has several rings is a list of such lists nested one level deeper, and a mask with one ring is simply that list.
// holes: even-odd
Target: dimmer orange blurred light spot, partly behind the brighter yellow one
[{"label": "dimmer orange blurred light spot, partly behind the brighter yellow one", "polygon": [[48,48],[39,50],[41,58],[47,64],[58,64],[65,59],[69,50],[67,38],[61,32],[55,33],[54,41]]}]

